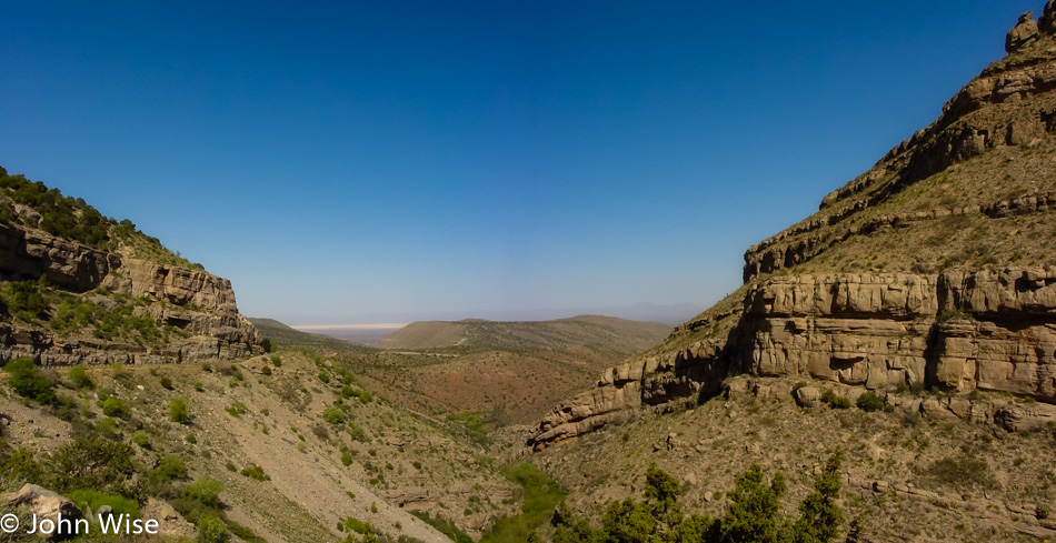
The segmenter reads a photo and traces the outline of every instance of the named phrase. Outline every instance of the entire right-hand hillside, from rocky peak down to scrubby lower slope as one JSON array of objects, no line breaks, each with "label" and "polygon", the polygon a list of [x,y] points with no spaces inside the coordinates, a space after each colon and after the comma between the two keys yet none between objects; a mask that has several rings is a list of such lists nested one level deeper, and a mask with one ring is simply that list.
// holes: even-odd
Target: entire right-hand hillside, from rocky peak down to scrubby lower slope
[{"label": "entire right-hand hillside, from rocky peak down to scrubby lower slope", "polygon": [[840,449],[848,541],[1056,536],[1054,3],[935,122],[749,248],[741,289],[544,418],[527,444],[579,512],[657,462],[718,514],[754,461],[794,511]]}]

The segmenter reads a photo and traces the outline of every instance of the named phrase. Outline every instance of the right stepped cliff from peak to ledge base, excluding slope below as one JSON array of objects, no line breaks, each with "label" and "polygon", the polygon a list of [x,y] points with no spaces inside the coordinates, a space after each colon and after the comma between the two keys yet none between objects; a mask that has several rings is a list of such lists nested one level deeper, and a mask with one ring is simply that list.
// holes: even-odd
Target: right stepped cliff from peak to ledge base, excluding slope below
[{"label": "right stepped cliff from peak to ledge base, excluding slope below", "polygon": [[743,289],[556,408],[529,445],[695,403],[738,374],[1056,403],[1053,4],[1040,30],[1020,18],[1010,54],[935,122],[748,249]]}]

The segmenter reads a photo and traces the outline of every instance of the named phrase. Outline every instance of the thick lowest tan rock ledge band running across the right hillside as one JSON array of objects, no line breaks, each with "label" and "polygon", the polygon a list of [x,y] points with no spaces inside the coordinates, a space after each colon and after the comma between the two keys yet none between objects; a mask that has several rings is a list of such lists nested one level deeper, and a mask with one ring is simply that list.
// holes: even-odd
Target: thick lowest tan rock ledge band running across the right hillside
[{"label": "thick lowest tan rock ledge band running across the right hillside", "polygon": [[923,382],[1056,403],[1056,269],[819,274],[751,285],[725,336],[606,371],[530,436],[539,450],[639,406],[697,401],[731,375],[870,390]]}]

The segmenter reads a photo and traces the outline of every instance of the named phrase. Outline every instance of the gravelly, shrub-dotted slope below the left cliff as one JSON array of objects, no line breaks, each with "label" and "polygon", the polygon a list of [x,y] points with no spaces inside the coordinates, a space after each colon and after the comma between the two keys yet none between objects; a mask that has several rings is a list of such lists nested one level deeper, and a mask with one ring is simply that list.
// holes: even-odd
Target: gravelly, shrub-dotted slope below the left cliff
[{"label": "gravelly, shrub-dotted slope below the left cliff", "polygon": [[[241,541],[339,541],[346,535],[336,530],[339,521],[355,519],[391,537],[383,541],[442,542],[447,537],[410,512],[479,535],[516,504],[515,485],[485,455],[487,440],[479,444],[462,422],[391,404],[340,362],[311,351],[280,350],[238,364],[39,374],[54,383],[49,389],[57,400],[21,398],[10,378],[0,388],[0,413],[11,418],[0,449],[6,492],[27,475],[62,492],[83,484],[53,471],[54,459],[78,446],[79,462],[87,463],[80,476],[118,465],[112,455],[131,452],[130,473],[111,473],[106,485],[92,487],[137,497],[143,507],[171,504],[179,517],[162,522],[162,534],[172,536],[193,537],[187,520],[220,514]],[[182,419],[175,402],[185,405]],[[97,451],[111,457],[96,459]],[[36,467],[28,467],[27,455]],[[160,474],[151,470],[165,463],[186,472],[155,481]],[[218,510],[189,499],[187,489],[206,477],[220,483]],[[11,512],[6,502],[0,509]]]}]

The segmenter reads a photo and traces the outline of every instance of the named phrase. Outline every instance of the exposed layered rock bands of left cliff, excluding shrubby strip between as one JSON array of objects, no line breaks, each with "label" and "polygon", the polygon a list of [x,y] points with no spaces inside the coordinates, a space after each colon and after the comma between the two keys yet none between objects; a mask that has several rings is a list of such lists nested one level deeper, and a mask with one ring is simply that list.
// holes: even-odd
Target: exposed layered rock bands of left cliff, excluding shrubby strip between
[{"label": "exposed layered rock bands of left cliff, excluding shrubby strip between", "polygon": [[[50,330],[0,324],[0,358],[31,356],[42,365],[143,364],[235,360],[252,355],[257,330],[235,303],[231,282],[210,273],[107,253],[38,230],[0,224],[0,273],[10,279],[46,278],[83,293],[104,288],[143,299],[135,316],[180,331],[163,349],[63,338]],[[107,303],[101,300],[100,303]]]}]

